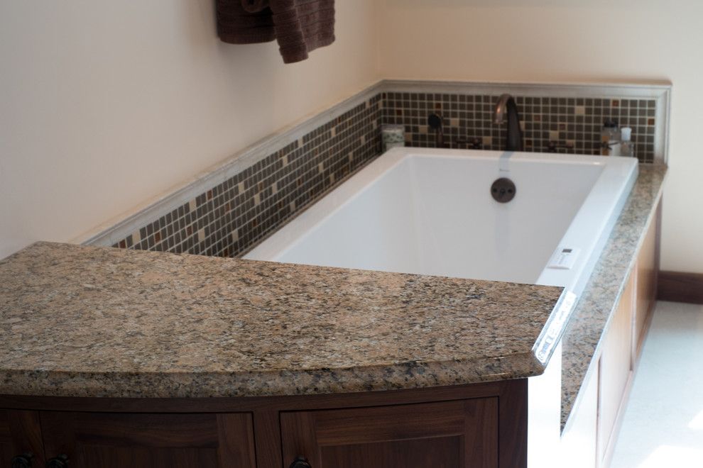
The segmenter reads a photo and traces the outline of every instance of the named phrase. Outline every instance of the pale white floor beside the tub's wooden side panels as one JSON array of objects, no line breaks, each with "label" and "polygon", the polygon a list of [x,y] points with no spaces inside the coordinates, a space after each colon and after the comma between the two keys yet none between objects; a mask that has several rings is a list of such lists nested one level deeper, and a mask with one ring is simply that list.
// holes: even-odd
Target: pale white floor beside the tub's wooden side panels
[{"label": "pale white floor beside the tub's wooden side panels", "polygon": [[703,467],[703,306],[660,302],[611,468]]}]

